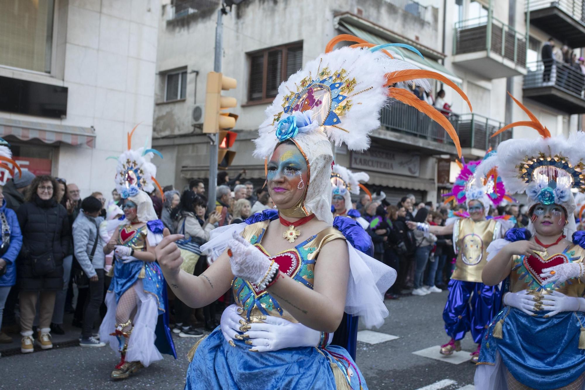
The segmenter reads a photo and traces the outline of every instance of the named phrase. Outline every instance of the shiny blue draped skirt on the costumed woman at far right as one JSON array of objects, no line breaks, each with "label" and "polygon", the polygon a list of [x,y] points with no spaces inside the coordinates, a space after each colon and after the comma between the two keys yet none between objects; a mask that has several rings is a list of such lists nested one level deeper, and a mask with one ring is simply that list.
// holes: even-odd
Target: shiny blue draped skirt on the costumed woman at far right
[{"label": "shiny blue draped skirt on the costumed woman at far right", "polygon": [[[493,365],[496,353],[517,381],[534,389],[558,389],[576,381],[585,371],[585,350],[579,349],[581,312],[550,312],[528,316],[505,307],[494,317],[481,343],[478,364]],[[495,338],[495,323],[504,319],[503,338]]]}]

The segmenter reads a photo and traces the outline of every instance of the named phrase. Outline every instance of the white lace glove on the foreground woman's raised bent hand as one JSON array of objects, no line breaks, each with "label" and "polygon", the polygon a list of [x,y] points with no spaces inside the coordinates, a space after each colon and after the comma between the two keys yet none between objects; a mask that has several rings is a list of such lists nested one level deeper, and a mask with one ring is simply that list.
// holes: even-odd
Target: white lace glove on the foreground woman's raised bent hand
[{"label": "white lace glove on the foreground woman's raised bent hand", "polygon": [[266,282],[271,280],[278,271],[276,262],[271,262],[268,256],[236,232],[228,241],[228,255],[229,251],[231,251],[229,263],[232,266],[233,276],[249,280],[260,290],[266,288]]}]

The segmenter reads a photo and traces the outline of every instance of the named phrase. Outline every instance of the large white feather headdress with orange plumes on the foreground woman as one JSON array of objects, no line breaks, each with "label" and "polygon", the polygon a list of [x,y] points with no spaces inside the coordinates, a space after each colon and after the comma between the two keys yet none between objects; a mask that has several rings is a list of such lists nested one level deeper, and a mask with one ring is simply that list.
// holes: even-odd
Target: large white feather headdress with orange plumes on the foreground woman
[{"label": "large white feather headdress with orange plumes on the foreground woman", "polygon": [[[333,50],[342,41],[358,43]],[[384,50],[388,46],[374,46],[351,35],[336,36],[328,43],[325,54],[309,61],[278,87],[278,95],[266,109],[267,118],[260,125],[259,138],[254,140],[254,156],[269,159],[276,146],[289,139],[297,145],[311,176],[302,206],[306,215],[315,213],[319,220],[332,223],[328,180],[333,161],[331,143],[346,143],[349,150],[369,148],[369,136],[380,126],[380,111],[390,98],[439,122],[461,155],[459,138],[448,119],[400,86],[421,79],[419,84],[429,85],[425,79],[436,78],[454,88],[469,104],[466,95],[440,74],[394,59]]]}]

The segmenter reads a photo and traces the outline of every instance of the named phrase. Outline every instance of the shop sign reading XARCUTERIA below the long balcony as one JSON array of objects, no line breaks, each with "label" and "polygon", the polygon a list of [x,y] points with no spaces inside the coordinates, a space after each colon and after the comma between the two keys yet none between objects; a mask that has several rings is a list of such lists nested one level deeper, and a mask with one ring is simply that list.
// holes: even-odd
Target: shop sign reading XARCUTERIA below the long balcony
[{"label": "shop sign reading XARCUTERIA below the long balcony", "polygon": [[418,177],[421,173],[421,158],[418,155],[393,150],[370,148],[362,153],[352,152],[350,167]]}]

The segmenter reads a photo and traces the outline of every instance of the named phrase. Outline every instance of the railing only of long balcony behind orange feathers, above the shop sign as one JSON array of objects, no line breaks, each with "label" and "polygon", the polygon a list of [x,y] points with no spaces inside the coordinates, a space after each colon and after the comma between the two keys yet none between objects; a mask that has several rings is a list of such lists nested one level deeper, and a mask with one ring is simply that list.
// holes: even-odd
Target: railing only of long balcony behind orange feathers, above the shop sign
[{"label": "railing only of long balcony behind orange feathers, above the shop sign", "polygon": [[[389,107],[382,110],[380,122],[382,127],[389,131],[453,145],[449,135],[439,124],[416,108],[399,101],[393,101]],[[452,113],[449,115],[449,122],[459,135],[462,148],[487,150],[491,147],[495,149],[500,142],[512,138],[511,130],[491,138],[494,132],[504,126],[504,123],[483,115]]]}]

